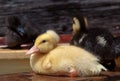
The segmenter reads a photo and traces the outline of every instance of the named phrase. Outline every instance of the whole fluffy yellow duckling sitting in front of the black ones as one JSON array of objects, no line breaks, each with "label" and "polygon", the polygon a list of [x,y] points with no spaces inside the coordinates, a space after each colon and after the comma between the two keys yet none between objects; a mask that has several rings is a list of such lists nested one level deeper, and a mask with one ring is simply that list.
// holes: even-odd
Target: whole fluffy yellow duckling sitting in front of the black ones
[{"label": "whole fluffy yellow duckling sitting in front of the black ones", "polygon": [[59,40],[59,35],[52,30],[37,37],[34,46],[26,53],[31,55],[30,66],[34,72],[83,77],[107,70],[93,54],[76,46],[60,45]]}]

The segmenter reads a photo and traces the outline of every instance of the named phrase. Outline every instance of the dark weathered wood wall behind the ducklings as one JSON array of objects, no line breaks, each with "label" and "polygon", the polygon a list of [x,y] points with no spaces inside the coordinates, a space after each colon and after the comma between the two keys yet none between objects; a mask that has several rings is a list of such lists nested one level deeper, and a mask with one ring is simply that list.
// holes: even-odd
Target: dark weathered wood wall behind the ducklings
[{"label": "dark weathered wood wall behind the ducklings", "polygon": [[8,15],[41,32],[54,28],[58,33],[71,33],[72,17],[85,15],[89,27],[120,33],[120,0],[0,0],[0,36],[5,35]]}]

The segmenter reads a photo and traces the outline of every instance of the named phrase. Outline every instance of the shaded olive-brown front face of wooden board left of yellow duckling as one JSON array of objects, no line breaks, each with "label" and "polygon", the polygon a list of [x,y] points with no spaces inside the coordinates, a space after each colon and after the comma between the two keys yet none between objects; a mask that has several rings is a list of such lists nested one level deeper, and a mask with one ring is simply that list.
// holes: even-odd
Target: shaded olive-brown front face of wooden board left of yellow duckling
[{"label": "shaded olive-brown front face of wooden board left of yellow duckling", "polygon": [[0,59],[0,74],[30,72],[29,59]]}]

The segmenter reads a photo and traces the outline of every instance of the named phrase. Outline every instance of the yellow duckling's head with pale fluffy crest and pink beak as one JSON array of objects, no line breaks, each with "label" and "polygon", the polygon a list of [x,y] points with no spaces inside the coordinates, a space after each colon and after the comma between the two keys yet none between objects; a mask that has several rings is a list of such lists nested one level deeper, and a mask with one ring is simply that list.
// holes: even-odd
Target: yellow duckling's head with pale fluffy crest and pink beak
[{"label": "yellow duckling's head with pale fluffy crest and pink beak", "polygon": [[60,38],[55,31],[48,30],[36,38],[34,46],[26,54],[48,53],[57,46],[59,40]]}]

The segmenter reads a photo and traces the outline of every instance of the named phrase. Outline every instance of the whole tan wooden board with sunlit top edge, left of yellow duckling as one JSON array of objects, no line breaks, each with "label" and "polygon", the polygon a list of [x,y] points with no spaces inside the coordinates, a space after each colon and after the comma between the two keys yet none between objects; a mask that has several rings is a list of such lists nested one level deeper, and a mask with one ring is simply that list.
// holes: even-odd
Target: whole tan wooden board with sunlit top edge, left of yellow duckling
[{"label": "whole tan wooden board with sunlit top edge, left of yellow duckling", "polygon": [[25,55],[26,52],[27,49],[0,49],[0,74],[31,71],[29,56]]}]

